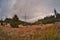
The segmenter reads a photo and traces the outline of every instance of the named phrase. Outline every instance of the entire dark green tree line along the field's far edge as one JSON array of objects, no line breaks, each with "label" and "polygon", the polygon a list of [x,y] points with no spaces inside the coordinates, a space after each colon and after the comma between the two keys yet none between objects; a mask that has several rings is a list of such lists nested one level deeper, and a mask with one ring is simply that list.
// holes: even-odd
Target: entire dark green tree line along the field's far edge
[{"label": "entire dark green tree line along the field's far edge", "polygon": [[34,22],[34,23],[28,23],[28,22],[24,22],[19,20],[18,16],[15,14],[12,18],[6,18],[4,21],[0,20],[1,25],[3,25],[3,23],[9,23],[13,28],[18,28],[18,25],[35,25],[36,23],[42,23],[42,24],[49,24],[49,23],[55,23],[57,22],[56,18],[54,15],[51,16],[46,16],[43,19],[39,19],[38,21]]}]

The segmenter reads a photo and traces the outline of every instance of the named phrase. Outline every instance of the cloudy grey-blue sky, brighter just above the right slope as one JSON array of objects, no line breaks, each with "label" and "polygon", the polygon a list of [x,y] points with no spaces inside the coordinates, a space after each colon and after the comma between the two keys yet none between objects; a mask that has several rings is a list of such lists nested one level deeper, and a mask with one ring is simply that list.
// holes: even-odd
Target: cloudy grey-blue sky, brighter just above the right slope
[{"label": "cloudy grey-blue sky, brighter just above the right slope", "polygon": [[60,0],[0,0],[0,18],[13,17],[33,22],[45,16],[53,15],[54,8],[60,12]]}]

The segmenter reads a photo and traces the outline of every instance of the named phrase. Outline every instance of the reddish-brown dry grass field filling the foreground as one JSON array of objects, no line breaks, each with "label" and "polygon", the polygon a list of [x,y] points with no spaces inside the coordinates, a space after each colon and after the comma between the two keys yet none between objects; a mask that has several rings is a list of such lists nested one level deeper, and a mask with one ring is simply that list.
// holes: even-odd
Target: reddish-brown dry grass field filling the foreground
[{"label": "reddish-brown dry grass field filling the foreground", "polygon": [[60,40],[59,23],[11,28],[0,25],[0,40]]}]

